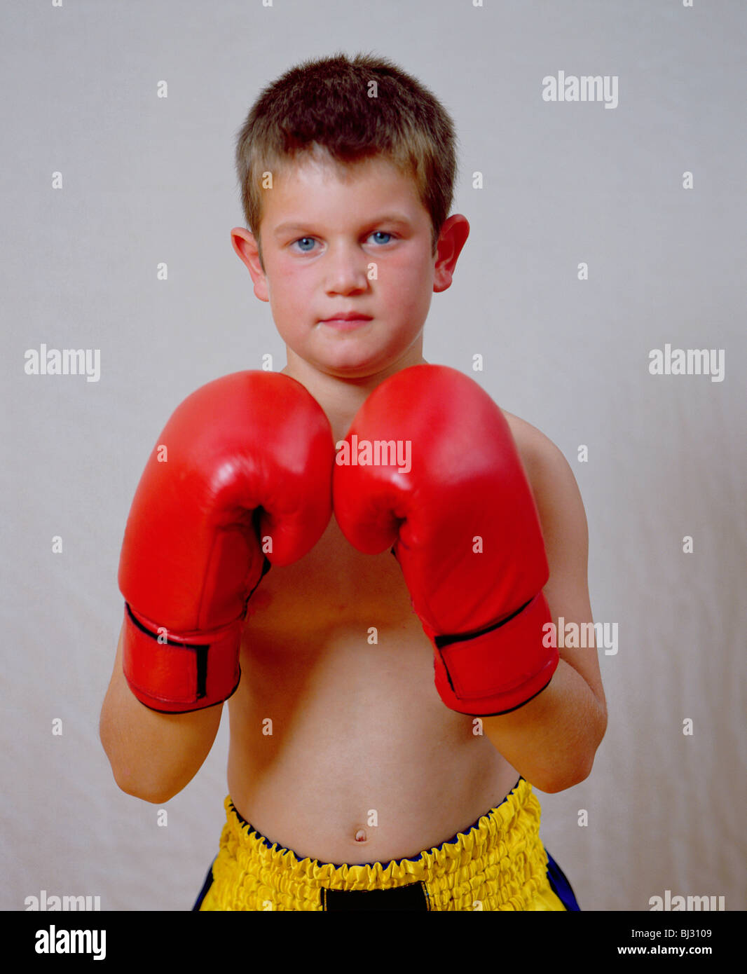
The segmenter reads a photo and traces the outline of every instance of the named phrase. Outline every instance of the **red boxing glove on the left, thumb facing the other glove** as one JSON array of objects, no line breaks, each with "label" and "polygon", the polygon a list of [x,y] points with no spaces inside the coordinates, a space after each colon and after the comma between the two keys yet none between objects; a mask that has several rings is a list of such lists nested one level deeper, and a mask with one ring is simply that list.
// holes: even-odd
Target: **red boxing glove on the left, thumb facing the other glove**
[{"label": "red boxing glove on the left, thumb facing the other glove", "polygon": [[291,564],[321,537],[333,457],[323,410],[288,376],[236,372],[176,409],[120,558],[124,670],[142,703],[185,713],[234,693],[248,599],[271,563]]}]

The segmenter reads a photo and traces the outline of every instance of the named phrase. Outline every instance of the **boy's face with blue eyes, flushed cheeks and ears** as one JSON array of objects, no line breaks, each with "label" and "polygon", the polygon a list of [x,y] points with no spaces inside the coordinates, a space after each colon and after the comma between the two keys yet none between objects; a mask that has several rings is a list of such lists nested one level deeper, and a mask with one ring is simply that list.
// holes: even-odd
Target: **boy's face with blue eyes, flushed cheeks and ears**
[{"label": "boy's face with blue eyes, flushed cheeks and ears", "polygon": [[327,375],[361,378],[423,361],[430,297],[449,286],[458,251],[446,282],[413,180],[383,159],[344,168],[306,159],[273,176],[264,269],[251,234],[233,239],[255,294],[270,302],[288,364],[295,355]]}]

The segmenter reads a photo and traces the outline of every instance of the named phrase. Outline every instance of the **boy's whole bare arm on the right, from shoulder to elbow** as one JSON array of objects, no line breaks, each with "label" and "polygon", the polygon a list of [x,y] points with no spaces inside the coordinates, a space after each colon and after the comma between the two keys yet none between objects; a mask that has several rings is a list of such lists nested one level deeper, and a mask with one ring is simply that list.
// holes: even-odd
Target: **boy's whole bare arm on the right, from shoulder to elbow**
[{"label": "boy's whole bare arm on the right, from shoulder to elbow", "polygon": [[[511,417],[514,435],[515,418]],[[520,422],[520,421],[519,421]],[[522,460],[535,493],[550,577],[544,594],[555,625],[591,622],[587,582],[588,529],[579,488],[565,457],[528,424],[521,424]],[[517,442],[519,436],[517,436]],[[593,630],[591,630],[593,633]],[[533,700],[483,729],[516,770],[541,791],[579,784],[591,771],[607,729],[607,703],[597,651],[559,648],[560,662],[549,684]]]}]

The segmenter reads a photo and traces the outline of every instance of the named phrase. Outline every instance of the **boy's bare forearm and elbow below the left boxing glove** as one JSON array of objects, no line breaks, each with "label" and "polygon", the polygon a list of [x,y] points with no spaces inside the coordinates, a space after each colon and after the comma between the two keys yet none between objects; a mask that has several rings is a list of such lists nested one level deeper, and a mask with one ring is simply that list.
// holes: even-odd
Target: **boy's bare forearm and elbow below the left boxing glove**
[{"label": "boy's bare forearm and elbow below the left boxing glove", "polygon": [[222,704],[188,714],[161,714],[131,693],[122,670],[120,631],[114,672],[104,697],[99,735],[119,787],[161,805],[203,766],[220,725]]}]

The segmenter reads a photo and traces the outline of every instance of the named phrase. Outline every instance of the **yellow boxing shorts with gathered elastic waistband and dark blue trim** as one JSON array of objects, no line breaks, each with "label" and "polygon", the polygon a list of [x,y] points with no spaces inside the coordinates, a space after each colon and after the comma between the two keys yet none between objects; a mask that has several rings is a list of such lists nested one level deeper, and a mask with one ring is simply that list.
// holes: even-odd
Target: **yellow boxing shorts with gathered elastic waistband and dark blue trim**
[{"label": "yellow boxing shorts with gathered elastic waistband and dark blue trim", "polygon": [[220,850],[195,910],[579,910],[540,840],[540,803],[519,778],[501,805],[412,859],[346,866],[270,843],[227,798]]}]

